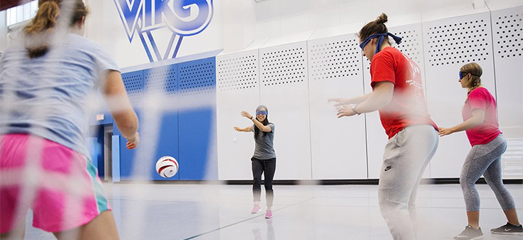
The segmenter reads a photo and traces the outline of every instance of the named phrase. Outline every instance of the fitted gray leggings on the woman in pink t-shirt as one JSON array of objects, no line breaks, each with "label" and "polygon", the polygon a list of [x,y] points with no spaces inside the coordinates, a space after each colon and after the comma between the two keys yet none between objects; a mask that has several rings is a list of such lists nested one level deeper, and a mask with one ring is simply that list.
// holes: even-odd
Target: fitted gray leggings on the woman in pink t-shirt
[{"label": "fitted gray leggings on the woman in pink t-shirt", "polygon": [[496,194],[497,202],[503,210],[514,209],[514,199],[502,181],[501,155],[507,150],[507,141],[503,135],[485,145],[475,145],[470,150],[461,169],[460,184],[465,197],[467,212],[480,210],[480,194],[475,182],[481,175]]}]

